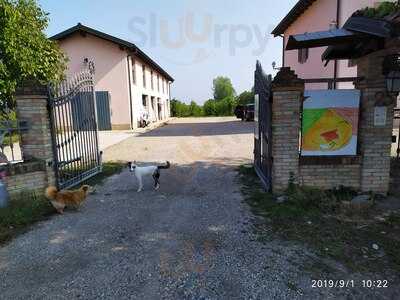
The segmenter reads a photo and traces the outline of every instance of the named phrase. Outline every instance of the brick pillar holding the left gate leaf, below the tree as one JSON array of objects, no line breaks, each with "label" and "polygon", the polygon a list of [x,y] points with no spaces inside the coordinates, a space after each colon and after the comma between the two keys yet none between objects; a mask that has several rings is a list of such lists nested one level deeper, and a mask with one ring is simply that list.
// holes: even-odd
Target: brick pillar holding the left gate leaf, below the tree
[{"label": "brick pillar holding the left gate leaf, below the tree", "polygon": [[55,184],[55,174],[51,162],[53,148],[50,119],[47,108],[47,87],[37,82],[26,82],[16,92],[17,118],[26,122],[27,131],[21,132],[21,152],[24,161],[46,162],[49,185]]}]

